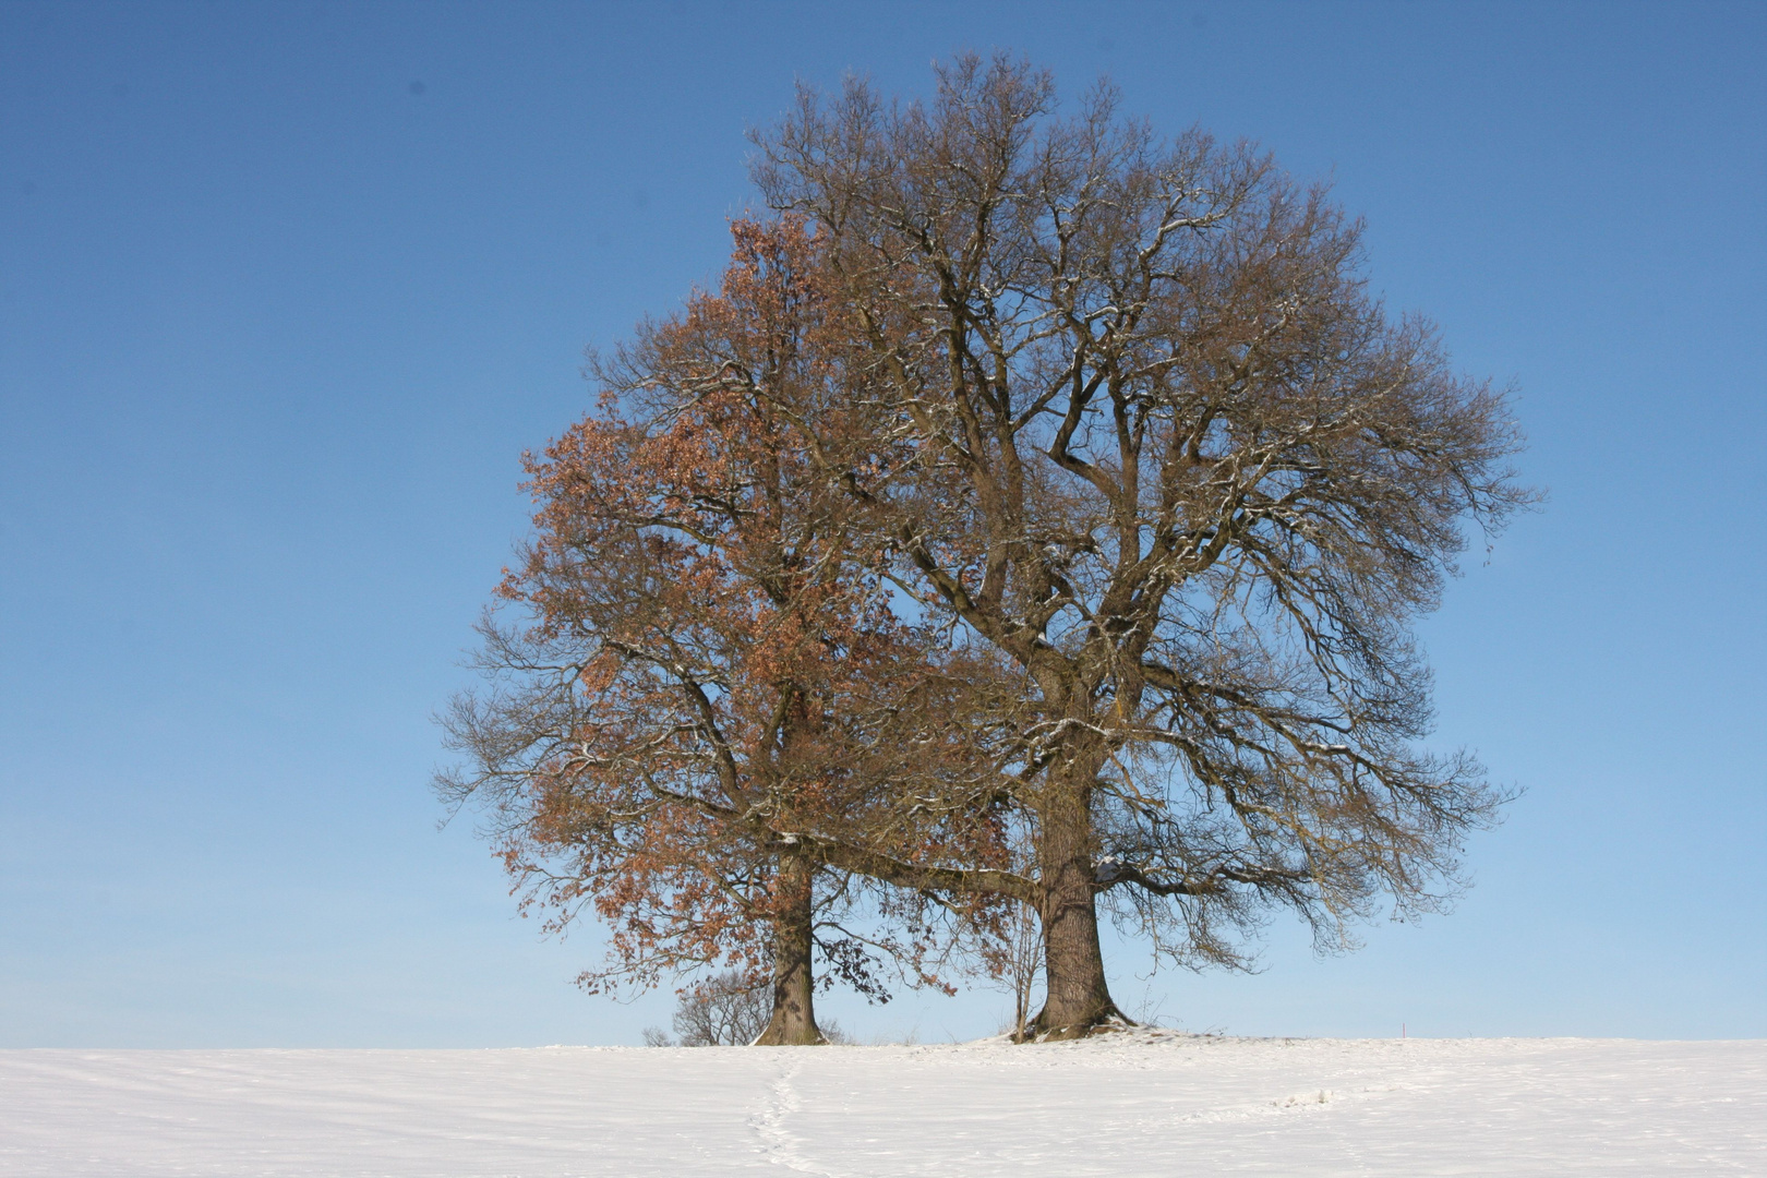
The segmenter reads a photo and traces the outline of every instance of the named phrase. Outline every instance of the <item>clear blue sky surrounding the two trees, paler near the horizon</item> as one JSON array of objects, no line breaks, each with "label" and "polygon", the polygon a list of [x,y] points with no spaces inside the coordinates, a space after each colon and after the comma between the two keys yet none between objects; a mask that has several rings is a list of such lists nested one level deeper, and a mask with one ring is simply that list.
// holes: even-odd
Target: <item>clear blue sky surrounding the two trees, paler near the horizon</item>
[{"label": "clear blue sky surrounding the two trees, paler near the horizon", "polygon": [[[1767,7],[0,5],[0,1046],[638,1042],[429,715],[578,367],[716,277],[795,78],[1005,46],[1253,138],[1513,381],[1548,507],[1424,627],[1523,788],[1451,917],[1129,1010],[1295,1035],[1767,1035]],[[975,1037],[1007,1000],[830,1003]]]}]

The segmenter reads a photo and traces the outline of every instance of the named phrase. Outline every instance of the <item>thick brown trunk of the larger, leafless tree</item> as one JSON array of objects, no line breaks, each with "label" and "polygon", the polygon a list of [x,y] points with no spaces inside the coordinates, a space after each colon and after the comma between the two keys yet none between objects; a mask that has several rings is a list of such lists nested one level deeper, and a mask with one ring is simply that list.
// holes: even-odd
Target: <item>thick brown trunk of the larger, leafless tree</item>
[{"label": "thick brown trunk of the larger, leafless tree", "polygon": [[[1078,761],[1078,763],[1076,763]],[[1083,758],[1069,765],[1078,770]],[[1078,777],[1078,774],[1074,774]],[[1027,1038],[1080,1038],[1110,1019],[1124,1019],[1104,980],[1094,902],[1092,781],[1050,782],[1037,860],[1043,874],[1043,963],[1046,998]],[[1124,1019],[1127,1021],[1127,1019]]]}]

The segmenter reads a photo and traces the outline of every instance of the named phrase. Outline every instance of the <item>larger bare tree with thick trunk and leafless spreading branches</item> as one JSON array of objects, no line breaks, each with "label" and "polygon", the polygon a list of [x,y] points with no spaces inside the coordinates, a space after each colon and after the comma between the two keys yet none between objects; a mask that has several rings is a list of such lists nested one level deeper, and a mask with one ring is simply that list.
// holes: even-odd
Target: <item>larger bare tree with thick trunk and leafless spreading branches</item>
[{"label": "larger bare tree with thick trunk and leafless spreading branches", "polygon": [[1465,528],[1528,493],[1504,396],[1385,313],[1361,224],[1108,87],[1062,117],[1007,57],[942,67],[929,104],[806,88],[756,143],[769,203],[823,242],[880,442],[855,463],[785,419],[896,586],[1016,678],[988,705],[1016,740],[995,802],[1034,842],[1021,871],[862,837],[825,862],[1032,904],[1043,1035],[1120,1017],[1101,904],[1184,964],[1244,963],[1270,906],[1322,947],[1382,895],[1437,908],[1504,797],[1419,749],[1410,623]]}]

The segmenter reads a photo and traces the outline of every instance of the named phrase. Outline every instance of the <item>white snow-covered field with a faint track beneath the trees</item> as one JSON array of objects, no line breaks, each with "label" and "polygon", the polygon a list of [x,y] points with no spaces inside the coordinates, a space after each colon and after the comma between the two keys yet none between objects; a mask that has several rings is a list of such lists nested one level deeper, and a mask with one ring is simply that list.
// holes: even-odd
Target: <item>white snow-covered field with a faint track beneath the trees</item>
[{"label": "white snow-covered field with a faint track beneath the trees", "polygon": [[1767,1042],[0,1051],[0,1174],[1767,1174]]}]

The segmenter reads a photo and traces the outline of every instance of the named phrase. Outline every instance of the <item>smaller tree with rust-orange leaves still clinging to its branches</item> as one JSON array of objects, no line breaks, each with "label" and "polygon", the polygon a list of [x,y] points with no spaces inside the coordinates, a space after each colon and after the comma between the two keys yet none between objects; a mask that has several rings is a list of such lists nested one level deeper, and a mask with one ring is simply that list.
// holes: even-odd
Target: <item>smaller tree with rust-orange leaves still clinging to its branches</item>
[{"label": "smaller tree with rust-orange leaves still clinging to its branches", "polygon": [[484,807],[551,927],[608,924],[592,991],[735,966],[772,982],[762,1042],[820,1042],[818,952],[887,996],[880,966],[938,982],[951,936],[988,927],[986,895],[868,890],[823,850],[1005,862],[1000,754],[968,719],[991,671],[899,608],[864,496],[823,473],[903,456],[818,240],[733,237],[721,288],[592,359],[599,412],[528,456],[535,533],[498,588],[525,616],[488,615],[489,689],[445,717],[468,766],[438,784]]}]

